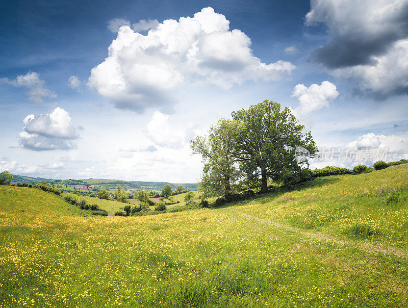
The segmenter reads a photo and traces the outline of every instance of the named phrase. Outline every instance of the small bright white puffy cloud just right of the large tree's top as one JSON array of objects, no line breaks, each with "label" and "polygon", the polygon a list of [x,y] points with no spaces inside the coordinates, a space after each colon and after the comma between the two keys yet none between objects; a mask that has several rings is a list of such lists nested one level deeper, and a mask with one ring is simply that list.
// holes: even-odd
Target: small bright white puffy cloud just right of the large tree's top
[{"label": "small bright white puffy cloud just right of the large tree's top", "polygon": [[323,81],[320,86],[313,84],[309,88],[303,84],[296,85],[292,97],[297,97],[299,106],[293,112],[296,116],[307,116],[323,107],[328,107],[338,95],[336,85],[328,81]]}]

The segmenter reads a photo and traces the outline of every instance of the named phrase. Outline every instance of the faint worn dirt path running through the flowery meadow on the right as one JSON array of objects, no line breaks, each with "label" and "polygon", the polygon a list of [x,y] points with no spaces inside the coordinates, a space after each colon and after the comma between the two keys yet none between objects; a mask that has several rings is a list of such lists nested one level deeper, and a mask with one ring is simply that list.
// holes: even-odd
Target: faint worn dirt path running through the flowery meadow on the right
[{"label": "faint worn dirt path running through the flowery meadow on the right", "polygon": [[383,252],[383,253],[390,253],[390,254],[394,254],[396,256],[399,256],[401,258],[407,258],[408,257],[408,251],[400,249],[400,248],[396,248],[396,247],[392,247],[392,246],[385,246],[385,245],[381,245],[381,244],[371,244],[371,243],[367,243],[367,242],[356,242],[356,241],[348,241],[348,240],[342,240],[339,239],[337,237],[334,236],[330,236],[321,232],[308,232],[299,228],[295,228],[286,224],[282,224],[282,223],[278,223],[269,219],[265,219],[265,218],[260,218],[258,216],[253,216],[244,212],[240,212],[237,211],[233,208],[225,208],[224,210],[228,211],[228,212],[234,212],[236,214],[238,214],[241,217],[245,217],[245,218],[249,218],[252,220],[256,220],[256,221],[261,221],[263,223],[272,225],[274,227],[277,228],[281,228],[281,229],[286,229],[289,230],[291,232],[295,232],[295,233],[299,233],[305,237],[309,237],[309,238],[314,238],[317,240],[322,240],[322,241],[326,241],[326,242],[335,242],[337,244],[340,245],[347,245],[350,247],[355,247],[355,248],[359,248],[371,253],[378,253],[378,252]]}]

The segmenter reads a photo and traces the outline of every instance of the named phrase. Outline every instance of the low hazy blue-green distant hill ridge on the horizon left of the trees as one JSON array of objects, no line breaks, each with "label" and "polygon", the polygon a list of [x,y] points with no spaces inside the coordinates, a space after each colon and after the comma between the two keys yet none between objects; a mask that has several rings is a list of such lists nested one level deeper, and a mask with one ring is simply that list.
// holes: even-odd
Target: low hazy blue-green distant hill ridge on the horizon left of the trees
[{"label": "low hazy blue-green distant hill ridge on the horizon left of the trees", "polygon": [[[37,184],[42,182],[47,183],[60,183],[66,182],[66,180],[62,179],[53,179],[53,178],[43,178],[43,177],[30,177],[30,176],[22,176],[13,174],[12,183],[29,183],[29,184]],[[69,179],[70,185],[76,184],[88,184],[92,186],[101,186],[106,188],[107,186],[116,186],[119,184],[124,189],[144,189],[144,190],[162,190],[163,186],[169,184],[173,190],[177,187],[177,185],[182,185],[184,189],[187,190],[197,190],[196,183],[169,183],[169,182],[148,182],[148,181],[123,181],[121,179],[109,179],[109,178],[87,178],[87,179]]]}]

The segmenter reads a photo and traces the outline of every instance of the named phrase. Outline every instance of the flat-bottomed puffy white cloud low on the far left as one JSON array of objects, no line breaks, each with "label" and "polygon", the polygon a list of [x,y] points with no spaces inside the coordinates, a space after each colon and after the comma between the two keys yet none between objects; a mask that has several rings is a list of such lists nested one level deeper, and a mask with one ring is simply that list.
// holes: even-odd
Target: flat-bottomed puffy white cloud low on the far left
[{"label": "flat-bottomed puffy white cloud low on the far left", "polygon": [[36,151],[70,150],[77,148],[79,135],[72,125],[69,113],[57,107],[45,115],[28,115],[23,120],[23,132],[18,135],[22,148]]}]

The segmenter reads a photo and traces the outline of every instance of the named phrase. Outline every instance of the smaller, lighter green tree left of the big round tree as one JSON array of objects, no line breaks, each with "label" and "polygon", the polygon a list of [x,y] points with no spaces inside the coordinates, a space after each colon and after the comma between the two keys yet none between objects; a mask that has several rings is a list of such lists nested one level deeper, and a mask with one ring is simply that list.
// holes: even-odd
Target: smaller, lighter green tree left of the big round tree
[{"label": "smaller, lighter green tree left of the big round tree", "polygon": [[198,184],[205,195],[231,193],[242,173],[238,169],[236,145],[238,121],[219,119],[208,136],[197,136],[191,141],[194,154],[203,160],[203,172]]}]

